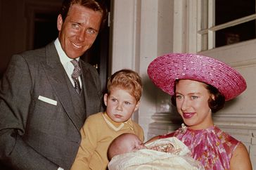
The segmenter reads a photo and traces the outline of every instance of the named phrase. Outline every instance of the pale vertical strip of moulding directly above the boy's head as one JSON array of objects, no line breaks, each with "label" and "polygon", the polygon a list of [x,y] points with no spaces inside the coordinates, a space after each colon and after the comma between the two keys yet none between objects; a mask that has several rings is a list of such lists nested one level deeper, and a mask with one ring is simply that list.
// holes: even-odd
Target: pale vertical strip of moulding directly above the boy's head
[{"label": "pale vertical strip of moulding directly above the boy's head", "polygon": [[137,1],[113,1],[112,70],[134,69],[136,54]]}]

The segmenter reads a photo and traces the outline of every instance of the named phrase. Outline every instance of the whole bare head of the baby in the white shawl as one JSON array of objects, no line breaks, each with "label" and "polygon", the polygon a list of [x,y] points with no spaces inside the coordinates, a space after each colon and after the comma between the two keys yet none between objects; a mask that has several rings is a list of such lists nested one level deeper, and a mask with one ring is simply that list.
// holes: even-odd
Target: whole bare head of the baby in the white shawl
[{"label": "whole bare head of the baby in the white shawl", "polygon": [[146,148],[143,142],[133,133],[122,133],[117,136],[108,148],[108,158],[135,150]]}]

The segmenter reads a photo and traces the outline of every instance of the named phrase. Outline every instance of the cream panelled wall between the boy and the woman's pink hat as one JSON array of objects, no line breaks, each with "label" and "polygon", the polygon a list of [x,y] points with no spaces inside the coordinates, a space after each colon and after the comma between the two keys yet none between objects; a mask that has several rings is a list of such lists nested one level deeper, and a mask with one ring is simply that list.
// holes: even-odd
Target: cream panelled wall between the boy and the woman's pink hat
[{"label": "cream panelled wall between the boy and the woman's pink hat", "polygon": [[148,138],[148,125],[156,112],[158,98],[155,86],[148,79],[148,64],[158,55],[172,50],[172,1],[122,0],[113,4],[112,70],[123,67],[139,72],[143,79],[143,96],[134,119]]}]

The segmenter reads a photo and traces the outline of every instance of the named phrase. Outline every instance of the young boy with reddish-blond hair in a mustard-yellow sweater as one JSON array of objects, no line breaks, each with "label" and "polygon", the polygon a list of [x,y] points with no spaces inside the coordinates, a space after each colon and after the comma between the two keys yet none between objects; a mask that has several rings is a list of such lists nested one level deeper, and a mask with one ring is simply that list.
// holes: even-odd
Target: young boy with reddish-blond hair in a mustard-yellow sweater
[{"label": "young boy with reddish-blond hair in a mustard-yellow sweater", "polygon": [[142,83],[132,70],[115,72],[107,84],[104,95],[105,112],[87,118],[81,129],[82,142],[72,170],[107,169],[108,147],[122,133],[134,133],[143,138],[143,129],[133,122],[132,114],[139,108]]}]

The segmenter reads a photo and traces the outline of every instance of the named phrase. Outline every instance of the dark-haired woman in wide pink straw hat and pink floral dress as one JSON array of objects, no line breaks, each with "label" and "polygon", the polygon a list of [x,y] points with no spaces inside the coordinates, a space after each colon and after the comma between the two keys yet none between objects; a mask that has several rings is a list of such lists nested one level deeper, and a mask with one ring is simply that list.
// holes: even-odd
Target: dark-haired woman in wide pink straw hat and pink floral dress
[{"label": "dark-haired woman in wide pink straw hat and pink floral dress", "polygon": [[184,121],[177,131],[155,136],[150,142],[175,136],[205,169],[252,169],[245,145],[212,121],[212,112],[245,91],[246,82],[241,74],[214,58],[172,53],[153,60],[148,76],[172,96],[172,104]]}]

